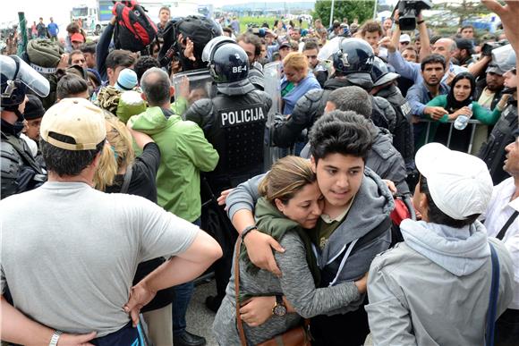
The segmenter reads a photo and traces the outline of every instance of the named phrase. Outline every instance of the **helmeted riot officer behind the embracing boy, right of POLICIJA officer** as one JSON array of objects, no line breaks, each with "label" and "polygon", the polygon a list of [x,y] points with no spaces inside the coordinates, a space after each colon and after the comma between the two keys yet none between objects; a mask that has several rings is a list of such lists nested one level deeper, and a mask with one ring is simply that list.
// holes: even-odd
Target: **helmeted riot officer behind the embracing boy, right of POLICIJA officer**
[{"label": "helmeted riot officer behind the embracing boy, right of POLICIJA officer", "polygon": [[[328,49],[324,46],[321,52],[326,51]],[[310,130],[311,125],[324,113],[332,90],[354,85],[370,92],[373,88],[370,72],[374,56],[373,49],[366,41],[342,38],[331,56],[335,73],[325,82],[323,89],[310,90],[297,101],[287,122],[279,122],[277,119],[275,126],[270,129],[271,144],[281,148],[292,146],[300,133],[305,129]],[[396,114],[391,105],[382,97],[371,97],[371,103],[371,120],[375,125],[394,131]]]}]

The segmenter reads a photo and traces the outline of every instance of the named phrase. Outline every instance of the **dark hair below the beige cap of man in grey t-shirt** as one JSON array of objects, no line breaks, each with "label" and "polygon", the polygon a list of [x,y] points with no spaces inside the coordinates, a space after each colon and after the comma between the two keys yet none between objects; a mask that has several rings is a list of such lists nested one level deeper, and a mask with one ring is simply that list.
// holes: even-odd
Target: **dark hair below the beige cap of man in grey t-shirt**
[{"label": "dark hair below the beige cap of man in grey t-shirt", "polygon": [[[64,136],[55,132],[49,132],[48,136],[65,143],[76,143],[72,137]],[[63,177],[64,175],[79,175],[82,170],[94,161],[94,158],[104,146],[105,140],[98,143],[96,148],[93,150],[66,150],[57,148],[44,139],[39,139],[39,148],[41,149],[41,155],[47,165],[47,170],[56,173],[60,177]]]}]

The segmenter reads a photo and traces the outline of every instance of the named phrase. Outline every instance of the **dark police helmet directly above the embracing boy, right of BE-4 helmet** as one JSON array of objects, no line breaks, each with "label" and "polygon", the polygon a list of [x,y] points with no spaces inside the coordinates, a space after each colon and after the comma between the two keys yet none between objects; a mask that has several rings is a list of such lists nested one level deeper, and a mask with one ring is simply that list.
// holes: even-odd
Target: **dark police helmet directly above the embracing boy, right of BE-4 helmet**
[{"label": "dark police helmet directly above the embracing boy, right of BE-4 helmet", "polygon": [[342,74],[370,73],[374,56],[368,42],[360,38],[344,38],[333,55],[334,68]]}]

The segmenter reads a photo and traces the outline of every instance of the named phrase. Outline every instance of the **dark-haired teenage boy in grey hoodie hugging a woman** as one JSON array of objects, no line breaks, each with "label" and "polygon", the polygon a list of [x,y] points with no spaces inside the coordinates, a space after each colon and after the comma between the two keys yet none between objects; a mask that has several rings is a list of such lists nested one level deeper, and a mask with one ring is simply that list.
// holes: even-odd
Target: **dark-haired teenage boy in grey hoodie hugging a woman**
[{"label": "dark-haired teenage boy in grey hoodie hugging a woman", "polygon": [[[323,215],[309,231],[321,271],[319,287],[359,279],[391,241],[388,215],[393,198],[384,181],[365,167],[373,142],[372,125],[353,112],[348,113],[353,113],[355,121],[337,121],[336,113],[341,111],[319,118],[310,134],[311,164],[325,198]],[[281,275],[270,247],[283,249],[255,228],[252,215],[262,178],[259,175],[233,190],[227,198],[229,217],[242,234],[252,263]],[[313,317],[312,344],[362,344],[369,333],[364,298],[335,315]]]}]

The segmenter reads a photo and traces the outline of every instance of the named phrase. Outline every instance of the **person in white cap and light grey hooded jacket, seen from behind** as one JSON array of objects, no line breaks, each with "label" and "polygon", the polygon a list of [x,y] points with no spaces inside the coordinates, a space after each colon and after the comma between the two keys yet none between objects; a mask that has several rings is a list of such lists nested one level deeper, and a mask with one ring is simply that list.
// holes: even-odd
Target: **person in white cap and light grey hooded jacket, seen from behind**
[{"label": "person in white cap and light grey hooded jacket, seen from behind", "polygon": [[423,146],[415,162],[420,181],[413,205],[421,221],[400,224],[404,242],[376,257],[368,276],[373,343],[485,344],[490,247],[499,262],[496,317],[514,296],[512,258],[477,221],[492,197],[489,170],[481,159],[439,143]]}]

